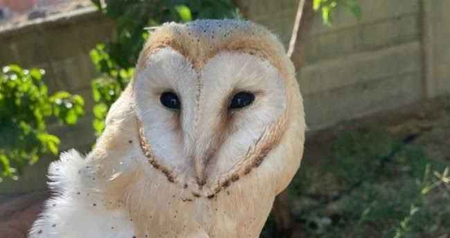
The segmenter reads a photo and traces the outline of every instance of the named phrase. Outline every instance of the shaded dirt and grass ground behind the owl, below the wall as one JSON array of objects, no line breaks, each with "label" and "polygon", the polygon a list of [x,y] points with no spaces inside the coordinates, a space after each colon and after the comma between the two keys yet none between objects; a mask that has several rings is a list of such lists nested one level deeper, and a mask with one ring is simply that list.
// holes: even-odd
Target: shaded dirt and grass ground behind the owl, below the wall
[{"label": "shaded dirt and grass ground behind the owl, below the wall", "polygon": [[[447,166],[450,96],[309,134],[289,187],[291,237],[450,237],[449,185],[416,193],[427,167],[435,174]],[[3,201],[1,237],[26,237],[47,196]],[[278,237],[274,227],[269,218],[262,237]]]}]

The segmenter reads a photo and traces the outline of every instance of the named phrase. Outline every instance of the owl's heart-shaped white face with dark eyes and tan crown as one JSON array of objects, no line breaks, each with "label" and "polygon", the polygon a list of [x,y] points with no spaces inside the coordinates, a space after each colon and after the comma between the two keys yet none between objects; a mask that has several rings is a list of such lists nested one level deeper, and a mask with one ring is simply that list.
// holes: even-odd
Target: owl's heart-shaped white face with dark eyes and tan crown
[{"label": "owl's heart-shaped white face with dark eyes and tan crown", "polygon": [[287,69],[280,49],[258,34],[241,21],[170,24],[153,33],[138,62],[141,149],[168,181],[198,196],[251,173],[285,133]]}]

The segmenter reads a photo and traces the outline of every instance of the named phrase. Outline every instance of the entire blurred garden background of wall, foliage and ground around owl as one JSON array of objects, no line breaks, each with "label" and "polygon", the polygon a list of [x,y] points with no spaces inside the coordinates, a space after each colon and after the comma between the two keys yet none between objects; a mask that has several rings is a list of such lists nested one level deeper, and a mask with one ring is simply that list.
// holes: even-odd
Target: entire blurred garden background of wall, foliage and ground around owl
[{"label": "entire blurred garden background of wall, foliage and ground around owl", "polygon": [[[0,0],[0,236],[26,237],[48,163],[90,151],[145,27],[248,19],[288,48],[298,3]],[[305,0],[291,57],[305,156],[262,237],[450,237],[449,10],[447,0]]]}]

